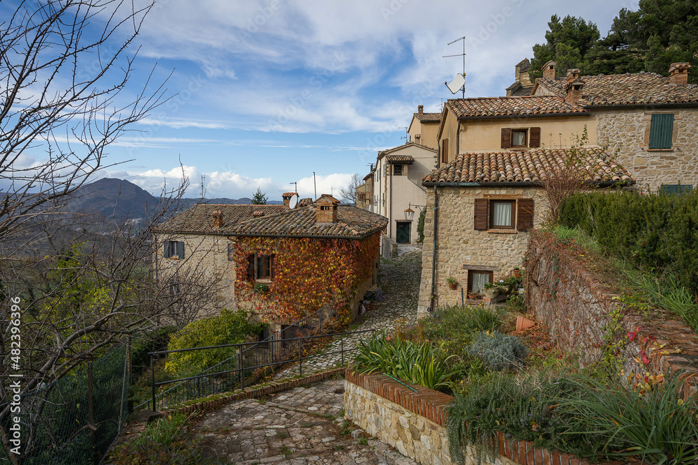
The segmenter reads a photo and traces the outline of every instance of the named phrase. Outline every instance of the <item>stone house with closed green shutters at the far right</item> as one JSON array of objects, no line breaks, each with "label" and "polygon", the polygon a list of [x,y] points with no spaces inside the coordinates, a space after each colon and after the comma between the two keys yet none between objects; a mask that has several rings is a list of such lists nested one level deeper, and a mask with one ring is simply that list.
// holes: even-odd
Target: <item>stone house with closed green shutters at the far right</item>
[{"label": "stone house with closed green shutters at the far right", "polygon": [[[580,76],[556,63],[544,66],[533,96],[560,96],[596,121],[595,143],[607,146],[644,191],[676,191],[698,183],[698,86],[688,84],[689,63],[672,63],[669,77],[655,73]],[[590,137],[591,138],[591,137]]]}]

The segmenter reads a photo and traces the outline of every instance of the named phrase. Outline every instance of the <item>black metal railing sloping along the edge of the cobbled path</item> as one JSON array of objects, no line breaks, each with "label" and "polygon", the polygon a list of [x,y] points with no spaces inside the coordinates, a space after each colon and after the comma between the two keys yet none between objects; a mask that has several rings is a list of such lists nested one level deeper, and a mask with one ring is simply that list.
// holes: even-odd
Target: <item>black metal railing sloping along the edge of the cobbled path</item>
[{"label": "black metal railing sloping along the edge of the cobbled path", "polygon": [[[218,392],[245,388],[260,381],[264,376],[263,370],[266,367],[272,367],[273,369],[287,363],[297,362],[299,364],[299,374],[302,375],[304,363],[306,372],[309,371],[309,368],[320,367],[320,369],[329,369],[344,366],[350,360],[350,353],[359,348],[357,344],[350,346],[345,344],[345,341],[348,338],[357,338],[367,333],[371,333],[371,337],[375,337],[375,330],[363,330],[305,337],[269,337],[259,342],[247,342],[244,344],[226,344],[179,349],[176,351],[151,352],[152,398],[137,406],[136,409],[147,404],[153,410],[157,408],[165,409],[187,400],[207,397]],[[276,334],[283,335],[283,331]],[[339,348],[306,355],[305,352],[313,344],[320,342],[320,338],[339,338]],[[170,353],[218,349],[228,349],[232,355],[221,363],[209,367],[202,374],[171,381],[155,382],[154,360],[156,357],[167,356]],[[168,387],[172,384],[174,386]]]}]

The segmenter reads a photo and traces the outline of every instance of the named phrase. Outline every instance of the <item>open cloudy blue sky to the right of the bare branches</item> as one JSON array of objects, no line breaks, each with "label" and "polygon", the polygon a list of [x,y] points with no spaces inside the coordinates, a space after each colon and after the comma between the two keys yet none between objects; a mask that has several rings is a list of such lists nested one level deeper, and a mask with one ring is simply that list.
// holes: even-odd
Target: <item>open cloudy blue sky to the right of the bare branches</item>
[{"label": "open cloudy blue sky to the right of the bare branches", "polygon": [[452,97],[452,40],[465,37],[466,97],[504,96],[551,15],[584,17],[604,36],[621,8],[637,1],[161,0],[129,48],[140,47],[120,97],[150,76],[170,100],[108,148],[116,165],[101,176],[156,195],[186,176],[198,197],[203,175],[205,197],[260,187],[280,200],[292,183],[313,197],[314,172],[318,195],[336,195],[406,142],[417,105],[438,112]]}]

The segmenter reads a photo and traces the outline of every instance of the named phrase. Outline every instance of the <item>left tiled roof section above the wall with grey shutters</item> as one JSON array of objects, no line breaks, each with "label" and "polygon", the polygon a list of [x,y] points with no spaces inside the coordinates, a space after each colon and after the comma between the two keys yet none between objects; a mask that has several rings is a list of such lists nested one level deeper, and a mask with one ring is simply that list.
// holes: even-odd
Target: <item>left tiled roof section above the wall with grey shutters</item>
[{"label": "left tiled roof section above the wall with grey shutters", "polygon": [[[261,211],[265,215],[274,215],[288,210],[284,205],[213,205],[198,204],[188,210],[179,213],[169,220],[158,224],[156,232],[177,233],[218,233],[222,229],[231,227],[238,222],[250,220],[255,211]],[[211,220],[214,212],[220,211],[223,219],[222,228],[214,228]]]}]

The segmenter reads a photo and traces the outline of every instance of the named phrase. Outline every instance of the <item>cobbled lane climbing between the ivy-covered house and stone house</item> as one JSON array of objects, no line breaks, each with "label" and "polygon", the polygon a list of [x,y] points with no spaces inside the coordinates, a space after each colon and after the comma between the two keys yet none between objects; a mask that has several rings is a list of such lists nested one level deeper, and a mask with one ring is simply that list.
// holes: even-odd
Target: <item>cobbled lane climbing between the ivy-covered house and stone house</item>
[{"label": "cobbled lane climbing between the ivy-covered house and stone house", "polygon": [[[383,302],[374,302],[373,310],[359,317],[358,326],[353,330],[376,330],[392,333],[396,324],[405,325],[417,322],[417,300],[419,280],[422,277],[422,250],[411,250],[396,259],[380,265],[378,287],[386,294]],[[359,337],[371,337],[369,333]],[[333,352],[352,349],[357,346],[359,337],[336,337],[317,358],[303,361],[303,374],[332,369],[341,365],[341,354]],[[332,355],[326,355],[332,354]],[[299,374],[298,365],[279,372],[276,379],[289,378]]]}]

